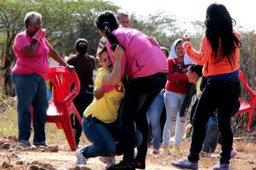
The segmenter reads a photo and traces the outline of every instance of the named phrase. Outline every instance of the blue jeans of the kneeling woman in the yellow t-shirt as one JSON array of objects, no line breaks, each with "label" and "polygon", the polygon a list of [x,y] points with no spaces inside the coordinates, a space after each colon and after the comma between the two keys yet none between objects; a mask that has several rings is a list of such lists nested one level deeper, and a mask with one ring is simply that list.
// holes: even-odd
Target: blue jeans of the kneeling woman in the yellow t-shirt
[{"label": "blue jeans of the kneeling woman in the yellow t-shirt", "polygon": [[[85,158],[94,158],[97,156],[111,156],[116,154],[116,142],[120,140],[120,123],[102,123],[95,117],[87,116],[82,119],[82,130],[86,138],[93,144],[82,148],[82,155]],[[142,136],[136,131],[134,147],[138,147],[142,142]],[[123,146],[118,147],[122,149]],[[120,153],[120,150],[118,151]]]}]

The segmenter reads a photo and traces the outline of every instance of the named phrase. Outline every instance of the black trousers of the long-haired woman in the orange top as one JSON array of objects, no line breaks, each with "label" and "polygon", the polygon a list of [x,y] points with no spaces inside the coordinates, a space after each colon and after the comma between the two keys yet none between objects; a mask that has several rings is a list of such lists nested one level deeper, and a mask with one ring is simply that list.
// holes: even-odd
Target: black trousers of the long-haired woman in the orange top
[{"label": "black trousers of the long-haired woman in the orange top", "polygon": [[205,125],[217,110],[219,130],[221,132],[221,163],[229,163],[232,150],[233,134],[230,118],[241,92],[239,78],[209,81],[203,89],[193,117],[194,130],[188,159],[199,160],[199,153],[205,139]]}]

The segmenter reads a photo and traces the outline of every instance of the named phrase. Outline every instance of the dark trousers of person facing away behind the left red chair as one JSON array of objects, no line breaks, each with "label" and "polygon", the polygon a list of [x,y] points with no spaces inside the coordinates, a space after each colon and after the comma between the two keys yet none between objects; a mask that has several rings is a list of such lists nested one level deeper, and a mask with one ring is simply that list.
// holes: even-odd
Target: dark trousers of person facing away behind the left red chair
[{"label": "dark trousers of person facing away behind the left red chair", "polygon": [[[80,87],[79,94],[74,98],[73,103],[75,104],[75,107],[82,118],[84,115],[84,110],[86,107],[88,107],[91,102],[93,101],[93,86],[83,86]],[[75,143],[76,145],[80,142],[80,137],[82,134],[82,126],[80,125],[79,121],[77,120],[76,116],[74,114],[71,115],[71,123],[73,126],[73,129],[76,130],[75,134]]]}]

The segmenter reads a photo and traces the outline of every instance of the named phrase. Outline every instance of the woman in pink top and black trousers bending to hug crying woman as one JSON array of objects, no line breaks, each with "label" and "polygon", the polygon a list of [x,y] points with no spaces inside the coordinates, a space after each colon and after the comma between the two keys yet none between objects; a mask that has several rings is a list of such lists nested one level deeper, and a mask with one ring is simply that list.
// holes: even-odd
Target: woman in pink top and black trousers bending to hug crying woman
[{"label": "woman in pink top and black trousers bending to hug crying woman", "polygon": [[[116,15],[104,11],[95,19],[100,34],[107,38],[109,54],[115,45],[121,45],[125,54],[121,61],[121,77],[125,83],[125,74],[131,78],[129,85],[125,83],[126,94],[120,108],[122,123],[122,142],[124,147],[123,160],[109,169],[145,169],[147,155],[148,123],[147,109],[154,98],[165,86],[168,65],[161,48],[149,41],[149,38],[131,28],[118,28]],[[112,45],[112,46],[111,46]],[[111,60],[114,61],[113,55]],[[134,122],[143,134],[143,142],[138,147],[134,160]]]}]

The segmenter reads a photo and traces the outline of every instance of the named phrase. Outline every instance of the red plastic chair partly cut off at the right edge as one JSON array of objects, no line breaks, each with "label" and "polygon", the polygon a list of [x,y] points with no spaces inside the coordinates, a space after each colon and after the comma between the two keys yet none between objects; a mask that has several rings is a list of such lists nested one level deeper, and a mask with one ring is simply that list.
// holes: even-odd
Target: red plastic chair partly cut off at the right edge
[{"label": "red plastic chair partly cut off at the right edge", "polygon": [[249,87],[249,85],[246,82],[246,78],[244,77],[244,74],[239,71],[239,77],[241,80],[241,85],[242,87],[244,87],[244,89],[246,89],[246,91],[250,94],[250,101],[247,102],[244,98],[239,98],[240,102],[241,102],[241,106],[239,108],[239,111],[237,111],[237,115],[239,114],[249,114],[249,121],[248,121],[248,129],[247,131],[250,131],[250,123],[253,120],[253,111],[255,108],[255,99],[256,99],[256,94],[253,91],[253,89],[251,89]]}]

